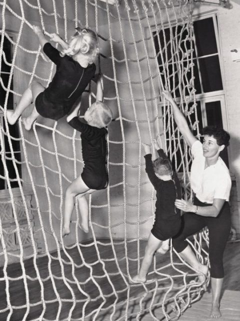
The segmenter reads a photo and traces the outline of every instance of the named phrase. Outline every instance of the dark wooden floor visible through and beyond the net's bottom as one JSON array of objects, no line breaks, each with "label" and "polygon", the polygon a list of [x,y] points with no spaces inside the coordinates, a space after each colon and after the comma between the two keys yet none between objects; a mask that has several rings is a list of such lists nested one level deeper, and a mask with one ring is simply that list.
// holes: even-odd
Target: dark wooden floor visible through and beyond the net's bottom
[{"label": "dark wooden floor visible through and beyond the net's bottom", "polygon": [[[46,319],[55,320],[57,312],[59,312],[59,319],[60,320],[67,320],[69,309],[72,308],[72,293],[70,292],[69,288],[66,286],[66,283],[69,283],[71,285],[72,291],[74,292],[76,300],[82,300],[83,302],[76,303],[75,307],[72,311],[72,319],[79,319],[81,317],[81,312],[84,310],[84,315],[87,315],[87,313],[90,313],[97,308],[99,308],[100,304],[102,304],[102,309],[99,312],[96,320],[97,321],[107,321],[109,319],[110,313],[112,313],[112,307],[109,308],[109,306],[116,301],[116,296],[114,293],[114,290],[117,292],[117,308],[118,310],[115,311],[113,320],[116,320],[118,318],[124,319],[124,315],[126,313],[126,298],[131,298],[131,300],[128,303],[127,311],[129,314],[129,317],[127,317],[128,320],[135,320],[136,314],[133,314],[133,316],[130,316],[131,313],[137,313],[139,312],[139,299],[135,299],[139,297],[140,293],[144,293],[143,286],[137,285],[137,286],[131,286],[130,291],[129,287],[126,287],[126,284],[123,281],[122,275],[119,274],[118,266],[122,273],[125,273],[125,279],[127,280],[126,275],[126,260],[124,258],[125,255],[125,249],[121,242],[119,242],[119,245],[114,245],[114,251],[115,255],[117,257],[117,264],[115,260],[108,261],[109,258],[113,258],[113,251],[110,246],[104,246],[104,244],[109,243],[109,240],[100,240],[100,242],[103,244],[98,244],[97,250],[100,255],[100,260],[97,259],[97,252],[94,249],[93,246],[91,247],[82,247],[82,255],[84,258],[85,266],[82,266],[82,259],[79,256],[78,251],[76,248],[72,248],[68,250],[68,254],[72,258],[72,260],[75,263],[75,269],[74,273],[72,273],[72,265],[69,264],[69,260],[67,257],[61,253],[61,258],[63,262],[63,270],[64,270],[64,276],[66,277],[66,282],[62,280],[62,267],[59,264],[59,260],[57,259],[56,253],[51,254],[51,262],[50,262],[50,268],[53,274],[53,281],[55,284],[55,289],[57,290],[57,293],[59,295],[59,302],[56,299],[54,286],[52,285],[52,280],[49,276],[49,261],[47,257],[41,257],[37,259],[36,265],[37,269],[39,271],[39,274],[42,278],[42,283],[44,286],[44,299],[47,301],[46,306],[43,307],[43,305],[36,304],[40,301],[40,284],[39,281],[36,278],[36,271],[33,266],[32,260],[26,260],[24,261],[24,269],[25,274],[27,275],[27,288],[28,288],[28,294],[29,294],[29,302],[32,304],[29,308],[29,310],[26,310],[26,307],[24,305],[26,304],[26,293],[24,284],[22,281],[22,278],[20,277],[22,275],[22,267],[15,263],[10,264],[7,266],[7,276],[12,277],[13,280],[9,281],[7,284],[4,281],[3,278],[3,270],[0,271],[0,310],[3,310],[4,308],[7,308],[7,296],[5,292],[5,288],[7,285],[9,285],[8,293],[8,301],[10,301],[11,305],[13,306],[12,314],[10,317],[10,321],[21,321],[24,314],[27,313],[26,320],[33,320],[37,319],[39,315],[42,313],[42,309],[45,308],[44,311],[44,317]],[[145,242],[141,242],[140,244],[140,255],[143,255],[145,247]],[[134,243],[131,244],[129,242],[127,244],[127,256],[129,258],[136,258],[137,251],[136,246]],[[104,264],[102,264],[104,262]],[[169,263],[169,255],[166,254],[164,256],[157,256],[156,257],[156,266],[164,266]],[[223,283],[223,300],[222,304],[226,304],[228,309],[235,309],[236,304],[234,303],[234,298],[239,298],[240,293],[240,242],[231,242],[227,244],[225,254],[224,254],[224,269],[225,269],[225,278]],[[136,273],[136,267],[137,264],[134,260],[128,260],[128,270],[131,273],[131,276],[133,276]],[[106,275],[106,272],[108,273],[108,276]],[[172,273],[170,267],[167,268],[164,273],[168,272],[169,274]],[[94,280],[96,282],[94,283],[90,276],[94,276]],[[19,277],[19,280],[16,280],[15,278]],[[151,278],[154,278],[154,275],[150,275]],[[75,279],[74,279],[75,278]],[[81,293],[76,285],[74,285],[74,281],[77,280],[81,284],[81,288],[85,293],[87,293],[93,300],[89,301],[87,304],[85,304],[83,309],[83,303],[85,302],[86,296],[84,293]],[[159,286],[164,286],[166,283],[169,283],[169,280],[162,281]],[[112,288],[112,284],[114,285],[114,290]],[[96,293],[99,292],[99,288],[102,291],[102,296],[106,298],[106,301],[103,302],[101,296],[97,296]],[[149,285],[150,286],[150,285]],[[235,292],[234,292],[235,291]],[[160,296],[164,295],[164,291],[162,291],[161,295],[158,293],[159,297],[156,296],[155,301]],[[225,294],[224,294],[225,293]],[[231,295],[233,296],[232,299],[229,299],[228,301],[224,301],[224,297],[230,298]],[[148,293],[146,295],[146,305],[150,304],[152,298],[152,293]],[[121,304],[122,302],[122,304]],[[200,302],[200,303],[199,303]],[[202,302],[202,303],[201,303]],[[207,302],[207,304],[206,304]],[[190,308],[188,308],[181,318],[180,321],[195,321],[193,319],[194,315],[191,315],[188,317],[188,314],[191,313],[191,309],[193,306],[196,306],[196,310],[207,313],[207,309],[210,310],[210,302],[211,297],[209,293],[205,293],[202,298],[198,301],[192,304]],[[35,304],[33,304],[35,303]],[[196,305],[196,304],[203,304]],[[20,306],[23,305],[22,308]],[[222,305],[223,306],[223,305]],[[196,313],[196,310],[193,311],[193,314]],[[239,312],[236,311],[236,315]],[[5,312],[0,313],[0,321],[5,321],[7,318],[7,315],[9,313],[9,310],[6,309]],[[158,320],[164,320],[164,315],[162,314],[162,311],[160,308],[153,308],[152,309],[153,315],[155,315],[156,319]],[[188,313],[188,314],[187,314]],[[206,320],[205,314],[202,313],[204,317],[198,318],[197,321],[200,320]],[[208,314],[207,314],[208,315]],[[228,315],[229,316],[229,315]],[[238,317],[239,316],[239,317]],[[183,318],[182,318],[183,317]],[[185,318],[184,318],[185,317]],[[188,317],[188,318],[187,318]],[[192,318],[191,318],[192,317]],[[199,316],[200,317],[200,316]],[[234,316],[235,317],[235,316]],[[238,317],[238,320],[240,320],[240,314],[238,314],[236,317]],[[92,316],[89,318],[84,318],[84,320],[92,320]],[[153,316],[149,313],[142,313],[139,316],[139,320],[142,321],[148,321],[152,320]],[[228,319],[230,320],[236,320],[235,318]],[[223,321],[223,319],[221,320]],[[225,320],[224,320],[225,321]]]}]

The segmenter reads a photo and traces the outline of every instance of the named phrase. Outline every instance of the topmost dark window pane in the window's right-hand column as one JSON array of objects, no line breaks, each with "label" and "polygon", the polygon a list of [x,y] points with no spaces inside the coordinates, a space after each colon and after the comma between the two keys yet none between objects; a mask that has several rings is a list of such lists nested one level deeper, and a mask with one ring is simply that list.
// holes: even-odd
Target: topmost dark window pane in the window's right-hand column
[{"label": "topmost dark window pane in the window's right-hand column", "polygon": [[216,37],[212,18],[194,21],[193,30],[198,57],[217,53]]}]

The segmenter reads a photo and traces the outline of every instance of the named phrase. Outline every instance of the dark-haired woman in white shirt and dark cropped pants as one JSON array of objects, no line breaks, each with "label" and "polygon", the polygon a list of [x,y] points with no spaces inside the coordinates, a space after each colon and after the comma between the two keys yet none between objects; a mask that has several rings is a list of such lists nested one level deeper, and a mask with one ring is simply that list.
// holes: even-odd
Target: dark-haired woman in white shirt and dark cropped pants
[{"label": "dark-haired woman in white shirt and dark cropped pants", "polygon": [[207,266],[201,264],[185,238],[198,232],[207,226],[209,236],[209,262],[210,281],[212,291],[212,307],[210,317],[221,316],[220,294],[223,283],[223,251],[230,232],[230,210],[228,205],[231,180],[229,171],[219,157],[220,151],[228,145],[229,134],[217,127],[205,127],[203,129],[203,143],[197,140],[191,133],[184,115],[168,91],[163,90],[163,96],[172,106],[174,120],[186,140],[193,161],[191,166],[190,183],[195,194],[194,203],[184,200],[176,200],[175,206],[184,213],[182,227],[176,237],[172,239],[174,249],[181,258],[195,270],[203,274],[207,273]]}]

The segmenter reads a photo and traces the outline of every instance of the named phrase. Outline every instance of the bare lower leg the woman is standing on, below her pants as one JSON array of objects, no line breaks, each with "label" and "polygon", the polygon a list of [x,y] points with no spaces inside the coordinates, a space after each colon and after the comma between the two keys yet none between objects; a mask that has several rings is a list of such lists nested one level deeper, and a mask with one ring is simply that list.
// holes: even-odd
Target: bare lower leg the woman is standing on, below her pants
[{"label": "bare lower leg the woman is standing on, below her pants", "polygon": [[214,278],[211,277],[211,293],[212,293],[212,303],[211,303],[211,312],[210,317],[218,318],[221,316],[220,312],[220,295],[221,288],[223,284],[223,278]]}]

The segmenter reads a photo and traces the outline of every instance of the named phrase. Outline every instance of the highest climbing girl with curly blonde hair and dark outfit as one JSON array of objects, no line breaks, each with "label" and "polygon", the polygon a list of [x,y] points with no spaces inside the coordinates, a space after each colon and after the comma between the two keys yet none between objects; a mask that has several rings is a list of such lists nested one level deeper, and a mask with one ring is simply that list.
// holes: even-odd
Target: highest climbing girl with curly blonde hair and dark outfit
[{"label": "highest climbing girl with curly blonde hair and dark outfit", "polygon": [[90,29],[76,28],[69,44],[57,34],[50,34],[50,40],[58,43],[62,47],[61,51],[51,46],[39,27],[33,26],[33,31],[45,55],[56,65],[56,71],[47,88],[32,81],[22,94],[16,109],[6,111],[7,121],[12,125],[25,108],[34,102],[31,114],[22,120],[26,130],[30,130],[39,115],[58,120],[68,114],[94,78],[96,66],[93,61],[99,53],[96,35]]}]

